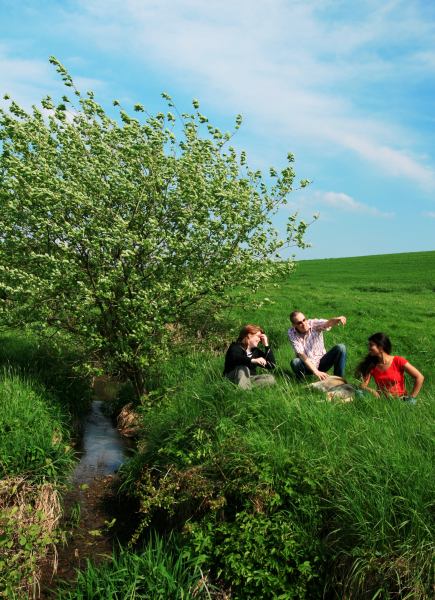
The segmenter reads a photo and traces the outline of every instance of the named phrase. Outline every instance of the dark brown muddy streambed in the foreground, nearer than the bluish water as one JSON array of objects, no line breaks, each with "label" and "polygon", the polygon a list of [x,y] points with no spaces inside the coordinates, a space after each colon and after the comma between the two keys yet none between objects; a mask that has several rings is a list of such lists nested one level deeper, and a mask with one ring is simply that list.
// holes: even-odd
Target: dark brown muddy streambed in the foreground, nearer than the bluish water
[{"label": "dark brown muddy streambed in the foreground, nearer than the bluish water", "polygon": [[41,578],[41,598],[56,597],[61,581],[74,584],[77,570],[110,560],[116,539],[127,540],[135,516],[133,507],[117,494],[116,475],[95,478],[89,485],[82,484],[69,491],[63,500],[64,516],[61,527],[66,530],[66,542],[57,548],[57,572],[47,557]]}]

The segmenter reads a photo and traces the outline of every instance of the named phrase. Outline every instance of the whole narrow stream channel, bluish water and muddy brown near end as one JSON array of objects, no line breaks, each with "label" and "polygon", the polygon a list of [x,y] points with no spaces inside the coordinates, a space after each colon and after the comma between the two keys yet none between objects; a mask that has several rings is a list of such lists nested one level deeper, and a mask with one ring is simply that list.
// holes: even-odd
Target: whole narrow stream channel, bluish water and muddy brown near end
[{"label": "whole narrow stream channel, bluish water and muddy brown near end", "polygon": [[[123,437],[104,412],[107,386],[94,387],[95,399],[82,427],[79,462],[63,497],[61,527],[66,543],[57,547],[57,569],[47,561],[41,579],[41,598],[56,598],[60,581],[74,582],[87,560],[98,564],[112,556],[116,539],[129,539],[135,508],[117,493],[117,471],[131,453],[131,439]],[[48,564],[51,563],[51,564]]]}]

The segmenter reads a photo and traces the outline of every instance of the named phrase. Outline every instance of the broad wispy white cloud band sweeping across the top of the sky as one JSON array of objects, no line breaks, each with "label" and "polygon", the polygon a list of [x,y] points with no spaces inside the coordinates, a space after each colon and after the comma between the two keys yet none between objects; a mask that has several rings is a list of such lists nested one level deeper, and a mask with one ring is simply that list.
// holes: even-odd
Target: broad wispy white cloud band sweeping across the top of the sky
[{"label": "broad wispy white cloud band sweeping across the top of the sky", "polygon": [[83,8],[81,30],[101,46],[119,50],[128,40],[148,65],[190,82],[215,107],[435,188],[433,161],[413,151],[419,136],[395,123],[388,102],[377,118],[365,107],[373,81],[403,88],[427,77],[435,26],[417,0],[352,8],[329,0],[87,0]]}]

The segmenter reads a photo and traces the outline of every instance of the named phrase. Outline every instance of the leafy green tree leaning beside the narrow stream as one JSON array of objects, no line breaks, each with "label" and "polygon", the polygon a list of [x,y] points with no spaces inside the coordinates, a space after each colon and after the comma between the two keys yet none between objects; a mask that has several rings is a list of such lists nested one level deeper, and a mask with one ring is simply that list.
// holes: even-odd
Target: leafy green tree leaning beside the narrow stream
[{"label": "leafy green tree leaning beside the narrow stream", "polygon": [[24,110],[5,96],[0,109],[1,319],[66,332],[88,366],[141,394],[192,307],[218,310],[235,286],[291,269],[280,251],[303,247],[307,225],[293,214],[280,237],[271,219],[292,190],[293,156],[266,184],[197,101],[179,115],[163,94],[167,112],[138,104],[136,118],[115,101],[111,117],[50,62],[73,100]]}]

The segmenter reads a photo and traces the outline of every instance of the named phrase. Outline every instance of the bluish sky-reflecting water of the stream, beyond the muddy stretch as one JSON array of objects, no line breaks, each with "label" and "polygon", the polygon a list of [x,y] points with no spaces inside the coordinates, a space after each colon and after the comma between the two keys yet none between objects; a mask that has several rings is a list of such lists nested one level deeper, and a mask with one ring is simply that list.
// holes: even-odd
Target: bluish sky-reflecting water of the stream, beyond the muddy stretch
[{"label": "bluish sky-reflecting water of the stream, beyond the muddy stretch", "polygon": [[83,455],[74,469],[73,484],[91,483],[95,477],[111,475],[126,458],[126,443],[104,414],[103,404],[103,400],[94,400],[83,422]]}]

